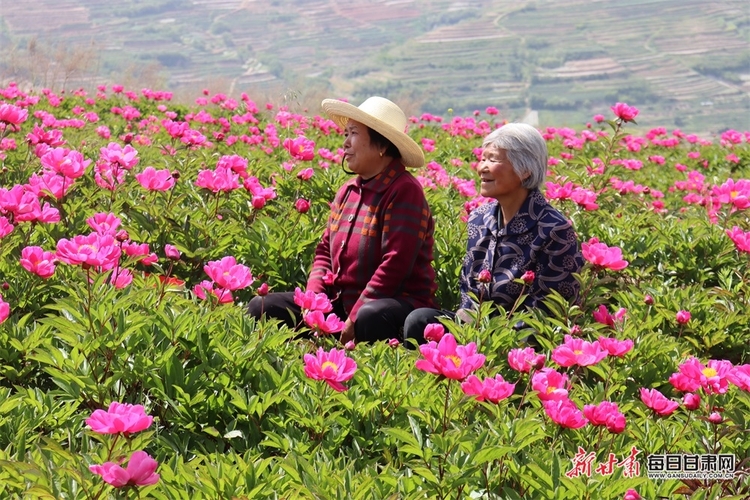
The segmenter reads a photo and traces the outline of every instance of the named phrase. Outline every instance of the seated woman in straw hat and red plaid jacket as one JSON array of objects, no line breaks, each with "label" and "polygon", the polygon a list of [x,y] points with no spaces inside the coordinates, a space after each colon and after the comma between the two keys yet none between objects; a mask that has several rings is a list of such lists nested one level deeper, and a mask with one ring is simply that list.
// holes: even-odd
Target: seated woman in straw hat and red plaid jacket
[{"label": "seated woman in straw hat and red plaid jacket", "polygon": [[[344,131],[343,161],[356,176],[333,200],[307,291],[325,293],[346,318],[342,343],[401,338],[412,310],[435,307],[434,222],[422,186],[406,170],[421,167],[424,154],[388,99],[370,97],[359,107],[325,99],[322,106]],[[293,292],[255,297],[249,312],[290,326],[300,319]]]}]

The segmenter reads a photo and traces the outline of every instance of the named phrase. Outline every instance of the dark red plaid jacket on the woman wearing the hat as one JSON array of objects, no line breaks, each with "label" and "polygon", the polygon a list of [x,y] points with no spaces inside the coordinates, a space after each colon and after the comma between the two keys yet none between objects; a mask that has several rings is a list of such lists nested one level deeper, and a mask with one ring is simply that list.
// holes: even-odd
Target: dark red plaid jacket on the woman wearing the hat
[{"label": "dark red plaid jacket on the woman wearing the hat", "polygon": [[[422,185],[400,161],[365,183],[357,176],[336,193],[307,290],[332,299],[340,294],[352,321],[360,307],[381,298],[435,307],[434,230]],[[327,287],[328,271],[335,278]]]}]

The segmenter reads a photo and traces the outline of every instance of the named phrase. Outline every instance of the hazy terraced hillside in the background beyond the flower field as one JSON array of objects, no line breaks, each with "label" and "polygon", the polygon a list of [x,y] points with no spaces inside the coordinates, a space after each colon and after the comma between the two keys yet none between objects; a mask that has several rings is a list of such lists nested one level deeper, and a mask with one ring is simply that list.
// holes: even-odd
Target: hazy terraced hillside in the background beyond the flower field
[{"label": "hazy terraced hillside in the background beyond the flower field", "polygon": [[[3,1],[2,76],[247,92],[317,106],[383,94],[411,113],[495,106],[580,124],[750,129],[746,0]],[[181,92],[184,90],[184,92]]]}]

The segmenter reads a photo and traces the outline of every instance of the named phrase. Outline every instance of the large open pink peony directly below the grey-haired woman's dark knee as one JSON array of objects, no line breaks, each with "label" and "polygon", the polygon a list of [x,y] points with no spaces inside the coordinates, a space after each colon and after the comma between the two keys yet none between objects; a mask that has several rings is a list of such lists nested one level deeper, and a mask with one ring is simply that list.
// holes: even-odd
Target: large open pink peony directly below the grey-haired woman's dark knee
[{"label": "large open pink peony directly below the grey-haired woman's dark knee", "polygon": [[458,345],[455,337],[446,333],[438,343],[429,342],[419,346],[424,359],[417,360],[415,366],[435,375],[464,380],[484,364],[485,356],[477,354],[476,349],[474,342]]}]

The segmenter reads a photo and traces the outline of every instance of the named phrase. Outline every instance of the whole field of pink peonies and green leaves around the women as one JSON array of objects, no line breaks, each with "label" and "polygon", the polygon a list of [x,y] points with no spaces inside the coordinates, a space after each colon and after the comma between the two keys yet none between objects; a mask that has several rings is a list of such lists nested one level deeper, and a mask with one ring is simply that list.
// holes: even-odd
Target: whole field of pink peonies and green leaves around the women
[{"label": "whole field of pink peonies and green leaves around the women", "polygon": [[[0,499],[750,498],[750,131],[541,128],[578,303],[344,346],[304,289],[348,179],[320,113],[0,88]],[[444,309],[504,123],[409,118]],[[295,290],[297,330],[245,312]]]}]

